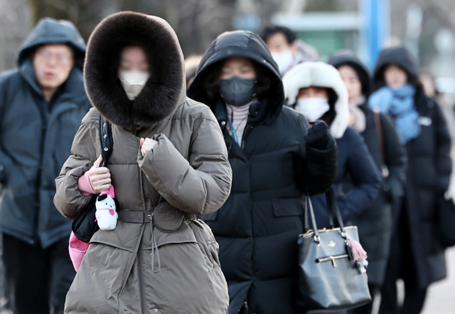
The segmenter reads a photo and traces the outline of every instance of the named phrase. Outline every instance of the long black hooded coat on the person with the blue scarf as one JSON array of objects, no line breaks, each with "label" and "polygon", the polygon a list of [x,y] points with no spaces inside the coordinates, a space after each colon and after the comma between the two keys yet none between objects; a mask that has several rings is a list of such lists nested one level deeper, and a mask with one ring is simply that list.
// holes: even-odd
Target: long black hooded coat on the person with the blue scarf
[{"label": "long black hooded coat on the person with the blue scarf", "polygon": [[[408,167],[403,209],[407,228],[397,232],[409,233],[419,287],[427,288],[446,276],[444,251],[436,238],[436,221],[437,203],[449,187],[451,139],[439,105],[424,95],[418,83],[417,66],[405,48],[389,48],[380,54],[373,75],[375,89],[385,85],[383,72],[391,63],[405,70],[409,82],[417,88],[414,104],[422,132],[406,144]],[[395,213],[395,224],[398,217],[400,213]]]}]

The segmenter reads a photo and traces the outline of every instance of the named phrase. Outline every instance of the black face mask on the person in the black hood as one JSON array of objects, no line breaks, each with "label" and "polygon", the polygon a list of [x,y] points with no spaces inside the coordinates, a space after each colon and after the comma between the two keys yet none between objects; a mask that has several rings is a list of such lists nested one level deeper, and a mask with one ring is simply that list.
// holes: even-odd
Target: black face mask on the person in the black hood
[{"label": "black face mask on the person in the black hood", "polygon": [[220,80],[220,95],[228,105],[240,107],[256,95],[256,80],[234,76],[229,80]]}]

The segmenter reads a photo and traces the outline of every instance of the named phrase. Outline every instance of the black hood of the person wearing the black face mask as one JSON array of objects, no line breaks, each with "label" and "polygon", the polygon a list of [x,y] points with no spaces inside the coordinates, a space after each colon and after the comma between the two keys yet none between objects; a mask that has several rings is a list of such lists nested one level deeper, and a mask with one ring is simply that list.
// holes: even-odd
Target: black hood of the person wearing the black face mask
[{"label": "black hood of the person wearing the black face mask", "polygon": [[200,61],[196,78],[188,90],[188,97],[200,103],[206,103],[214,110],[215,103],[208,101],[208,95],[203,88],[205,77],[215,63],[235,56],[249,58],[266,70],[271,83],[268,99],[262,102],[268,107],[263,121],[274,120],[281,112],[284,103],[282,78],[267,45],[257,34],[250,31],[228,31],[213,41]]}]

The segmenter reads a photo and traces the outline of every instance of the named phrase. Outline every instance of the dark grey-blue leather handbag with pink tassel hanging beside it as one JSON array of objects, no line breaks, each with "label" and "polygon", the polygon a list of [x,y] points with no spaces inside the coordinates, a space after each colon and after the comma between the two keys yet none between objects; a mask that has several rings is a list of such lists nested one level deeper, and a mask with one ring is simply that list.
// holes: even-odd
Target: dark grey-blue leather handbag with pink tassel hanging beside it
[{"label": "dark grey-blue leather handbag with pink tassel hanging beside it", "polygon": [[[348,310],[371,301],[367,279],[349,248],[349,241],[358,241],[356,226],[344,226],[333,189],[326,193],[331,229],[318,230],[313,205],[306,194],[305,233],[299,236],[299,273],[297,308],[326,313]],[[308,211],[313,229],[309,229]],[[333,213],[339,228],[333,224]]]}]

